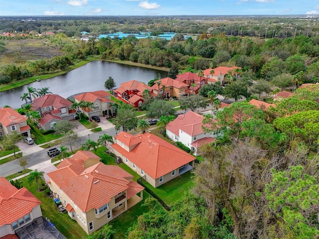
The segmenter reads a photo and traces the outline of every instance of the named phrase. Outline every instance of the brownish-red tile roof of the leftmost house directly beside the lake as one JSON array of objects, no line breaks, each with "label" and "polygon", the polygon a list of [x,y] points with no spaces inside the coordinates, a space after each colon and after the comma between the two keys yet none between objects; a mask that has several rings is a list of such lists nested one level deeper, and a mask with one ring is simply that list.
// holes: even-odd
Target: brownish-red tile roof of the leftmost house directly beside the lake
[{"label": "brownish-red tile roof of the leftmost house directly beside the lake", "polygon": [[49,106],[52,106],[54,109],[61,109],[72,106],[72,102],[65,100],[59,95],[50,94],[34,99],[31,106],[33,110]]}]

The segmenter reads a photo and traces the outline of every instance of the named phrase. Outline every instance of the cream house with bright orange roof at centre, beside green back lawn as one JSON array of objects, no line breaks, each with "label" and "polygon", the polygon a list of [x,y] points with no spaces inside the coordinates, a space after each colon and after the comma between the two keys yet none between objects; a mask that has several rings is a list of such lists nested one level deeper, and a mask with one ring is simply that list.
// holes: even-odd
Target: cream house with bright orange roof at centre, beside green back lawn
[{"label": "cream house with bright orange roof at centre, beside green back lawn", "polygon": [[122,131],[115,138],[113,152],[155,188],[194,165],[194,156],[152,133],[133,135]]}]

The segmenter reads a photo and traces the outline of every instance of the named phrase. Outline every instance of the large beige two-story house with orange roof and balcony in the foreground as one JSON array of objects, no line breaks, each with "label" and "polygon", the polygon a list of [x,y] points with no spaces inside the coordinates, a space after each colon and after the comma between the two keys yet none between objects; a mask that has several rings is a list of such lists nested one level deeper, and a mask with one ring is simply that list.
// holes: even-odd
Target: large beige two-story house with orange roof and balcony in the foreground
[{"label": "large beige two-story house with orange roof and balcony in the foreground", "polygon": [[117,165],[90,166],[70,158],[47,176],[53,195],[88,235],[143,200],[144,188]]}]

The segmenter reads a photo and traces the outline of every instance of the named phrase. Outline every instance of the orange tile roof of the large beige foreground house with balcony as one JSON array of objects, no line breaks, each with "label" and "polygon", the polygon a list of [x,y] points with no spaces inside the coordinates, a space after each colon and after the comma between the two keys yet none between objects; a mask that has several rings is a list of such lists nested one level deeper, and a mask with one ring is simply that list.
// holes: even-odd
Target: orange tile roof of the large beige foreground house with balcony
[{"label": "orange tile roof of the large beige foreground house with balcony", "polygon": [[[69,165],[64,163],[65,161],[68,161]],[[64,167],[60,167],[62,163]],[[131,187],[130,181],[126,178],[133,176],[117,165],[105,165],[100,162],[85,169],[72,159],[65,159],[62,163],[58,165],[57,170],[47,175],[50,181],[56,183],[84,213],[93,208],[100,208],[109,203],[112,197]],[[83,168],[81,173],[78,172],[76,164]],[[139,186],[137,190],[137,185],[133,186],[135,189],[129,191],[140,192],[144,189]]]}]

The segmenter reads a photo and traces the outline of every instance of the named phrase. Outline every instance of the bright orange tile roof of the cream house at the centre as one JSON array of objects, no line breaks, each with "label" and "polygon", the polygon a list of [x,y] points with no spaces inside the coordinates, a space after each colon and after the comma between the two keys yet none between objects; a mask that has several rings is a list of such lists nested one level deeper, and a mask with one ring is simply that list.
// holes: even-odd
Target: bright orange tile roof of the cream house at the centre
[{"label": "bright orange tile roof of the cream house at the centre", "polygon": [[[122,134],[134,137],[135,135],[120,132],[118,140],[123,138]],[[195,159],[194,156],[168,143],[152,133],[139,134],[142,141],[138,143],[130,152],[126,151],[119,144],[111,146],[125,157],[129,158],[138,167],[143,169],[152,178],[160,176],[186,164]]]}]

